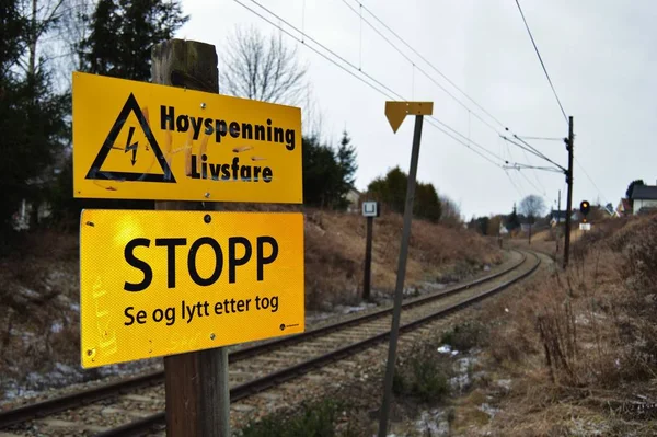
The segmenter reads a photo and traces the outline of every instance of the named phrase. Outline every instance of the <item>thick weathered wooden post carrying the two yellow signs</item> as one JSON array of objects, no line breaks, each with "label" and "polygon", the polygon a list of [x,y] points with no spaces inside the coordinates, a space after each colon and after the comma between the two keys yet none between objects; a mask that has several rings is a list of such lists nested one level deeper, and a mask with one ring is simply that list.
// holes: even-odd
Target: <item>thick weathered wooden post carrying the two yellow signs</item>
[{"label": "thick weathered wooden post carrying the two yellow signs", "polygon": [[[215,46],[170,39],[155,45],[151,58],[153,83],[219,92]],[[199,209],[199,206],[188,202],[155,203],[158,210]],[[230,436],[226,347],[164,357],[164,388],[166,436]]]}]

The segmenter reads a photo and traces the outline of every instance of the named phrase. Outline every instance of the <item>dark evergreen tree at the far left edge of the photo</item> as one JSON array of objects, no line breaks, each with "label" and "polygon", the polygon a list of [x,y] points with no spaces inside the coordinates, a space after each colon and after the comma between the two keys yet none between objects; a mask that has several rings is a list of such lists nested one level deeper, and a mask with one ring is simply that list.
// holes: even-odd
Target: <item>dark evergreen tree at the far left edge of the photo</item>
[{"label": "dark evergreen tree at the far left edge of the photo", "polygon": [[[34,27],[51,22],[22,14],[20,2],[0,0],[0,227],[7,234],[22,200],[37,209],[51,182],[54,160],[68,138],[69,97],[53,93],[43,61],[21,74],[21,57],[34,44]],[[36,217],[36,215],[34,216]]]}]

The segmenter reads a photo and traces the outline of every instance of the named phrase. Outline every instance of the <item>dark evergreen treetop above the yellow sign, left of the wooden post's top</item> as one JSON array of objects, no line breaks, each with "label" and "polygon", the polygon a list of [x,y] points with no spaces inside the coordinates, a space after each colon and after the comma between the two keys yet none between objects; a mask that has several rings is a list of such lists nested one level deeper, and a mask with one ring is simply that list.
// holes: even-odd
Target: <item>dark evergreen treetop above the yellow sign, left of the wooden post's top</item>
[{"label": "dark evergreen treetop above the yellow sign, left of the wooden post's top", "polygon": [[173,38],[187,20],[177,1],[100,0],[80,58],[89,72],[148,81],[151,47]]}]

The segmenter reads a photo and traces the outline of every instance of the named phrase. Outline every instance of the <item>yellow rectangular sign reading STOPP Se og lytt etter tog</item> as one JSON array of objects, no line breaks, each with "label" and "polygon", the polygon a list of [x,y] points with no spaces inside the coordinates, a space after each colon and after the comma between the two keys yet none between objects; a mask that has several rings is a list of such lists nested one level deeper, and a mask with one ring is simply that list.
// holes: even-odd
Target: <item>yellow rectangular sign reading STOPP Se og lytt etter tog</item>
[{"label": "yellow rectangular sign reading STOPP Se og lytt etter tog", "polygon": [[299,212],[82,211],[82,367],[303,332]]}]

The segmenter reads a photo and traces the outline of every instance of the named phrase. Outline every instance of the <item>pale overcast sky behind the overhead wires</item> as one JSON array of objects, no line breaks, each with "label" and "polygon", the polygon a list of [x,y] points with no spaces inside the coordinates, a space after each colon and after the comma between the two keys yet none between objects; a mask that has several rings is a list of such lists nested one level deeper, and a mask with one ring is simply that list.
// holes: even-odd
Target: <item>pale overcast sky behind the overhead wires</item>
[{"label": "pale overcast sky behind the overhead wires", "polygon": [[[251,0],[241,1],[283,25]],[[346,5],[358,10],[356,0],[258,2],[404,99],[433,101],[434,116],[462,134],[464,142],[469,138],[510,162],[548,164],[505,143],[498,136],[504,133],[502,126],[403,43],[391,39],[414,59],[416,68],[361,23]],[[214,44],[219,53],[238,25],[254,25],[265,34],[278,32],[235,1],[182,3],[191,20],[177,37]],[[567,136],[567,123],[514,0],[362,0],[362,4],[515,134]],[[520,4],[566,114],[574,116],[575,157],[580,164],[575,165],[574,206],[585,198],[593,203],[599,198],[615,207],[632,180],[655,184],[657,148],[652,140],[657,129],[657,2],[521,0]],[[365,10],[362,18],[377,24]],[[408,117],[393,134],[383,114],[385,96],[291,37],[284,38],[288,45],[298,46],[299,56],[309,66],[325,138],[335,145],[346,128],[357,148],[357,188],[365,189],[372,179],[395,165],[407,172],[413,119]],[[370,81],[357,70],[351,71]],[[529,142],[566,166],[563,142]],[[560,189],[565,207],[562,174],[505,172],[427,123],[419,160],[418,179],[431,182],[439,194],[454,199],[468,219],[472,215],[508,214],[514,203],[528,194],[544,196],[546,206],[556,206]]]}]

